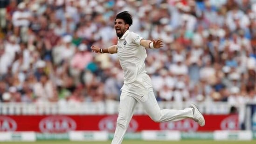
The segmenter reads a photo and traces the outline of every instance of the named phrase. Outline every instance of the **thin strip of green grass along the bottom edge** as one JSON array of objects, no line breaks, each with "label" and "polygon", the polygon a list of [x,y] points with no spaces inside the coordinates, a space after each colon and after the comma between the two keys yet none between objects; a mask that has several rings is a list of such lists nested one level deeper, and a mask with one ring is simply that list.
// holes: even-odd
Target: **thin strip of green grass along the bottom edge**
[{"label": "thin strip of green grass along the bottom edge", "polygon": [[[70,142],[70,141],[37,141],[37,142],[5,142],[1,144],[111,144],[107,142]],[[183,140],[183,141],[134,141],[126,140],[122,144],[256,144],[253,141],[211,141],[211,140]]]}]

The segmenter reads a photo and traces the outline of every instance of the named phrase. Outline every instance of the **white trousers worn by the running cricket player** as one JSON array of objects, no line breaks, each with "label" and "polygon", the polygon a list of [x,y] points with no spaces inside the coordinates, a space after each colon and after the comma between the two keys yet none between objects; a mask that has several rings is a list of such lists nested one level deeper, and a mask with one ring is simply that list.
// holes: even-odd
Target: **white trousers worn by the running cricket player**
[{"label": "white trousers worn by the running cricket player", "polygon": [[184,110],[160,110],[153,91],[148,92],[148,96],[141,100],[140,96],[130,96],[122,91],[120,96],[119,114],[116,131],[111,144],[121,144],[126,129],[131,121],[134,108],[137,103],[141,103],[151,119],[155,122],[174,122],[185,118],[193,118],[192,108]]}]

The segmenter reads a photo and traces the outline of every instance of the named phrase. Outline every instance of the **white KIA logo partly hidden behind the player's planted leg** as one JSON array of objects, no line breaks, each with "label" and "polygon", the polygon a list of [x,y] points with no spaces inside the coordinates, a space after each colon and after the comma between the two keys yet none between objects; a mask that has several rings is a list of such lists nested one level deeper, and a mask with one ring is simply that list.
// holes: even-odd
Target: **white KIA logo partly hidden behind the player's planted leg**
[{"label": "white KIA logo partly hidden behind the player's planted leg", "polygon": [[[99,122],[99,129],[100,130],[106,130],[109,132],[114,132],[117,126],[117,119],[118,116],[109,116],[109,117],[104,117],[102,120]],[[131,119],[127,131],[128,132],[135,132],[138,129],[138,123],[136,120]]]}]

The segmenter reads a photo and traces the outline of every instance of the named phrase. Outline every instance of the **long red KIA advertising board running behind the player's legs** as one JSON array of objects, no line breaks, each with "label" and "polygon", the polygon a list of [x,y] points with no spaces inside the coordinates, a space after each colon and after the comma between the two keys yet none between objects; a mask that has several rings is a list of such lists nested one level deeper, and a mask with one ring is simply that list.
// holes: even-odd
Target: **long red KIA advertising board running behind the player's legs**
[{"label": "long red KIA advertising board running behind the player's legs", "polygon": [[[212,131],[238,130],[237,115],[204,115],[206,125],[200,127],[191,119],[155,123],[146,115],[135,115],[128,131],[181,130]],[[54,116],[0,116],[0,131],[67,132],[69,130],[107,130],[114,132],[117,115],[54,115]]]}]

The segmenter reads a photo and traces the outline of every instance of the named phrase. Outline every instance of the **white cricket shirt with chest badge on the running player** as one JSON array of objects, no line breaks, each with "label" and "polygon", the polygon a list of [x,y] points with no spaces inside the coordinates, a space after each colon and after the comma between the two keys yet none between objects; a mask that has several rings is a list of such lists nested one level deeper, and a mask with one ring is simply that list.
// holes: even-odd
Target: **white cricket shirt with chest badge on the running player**
[{"label": "white cricket shirt with chest badge on the running player", "polygon": [[140,45],[143,38],[127,30],[118,39],[118,59],[124,70],[125,84],[134,82],[138,75],[145,74],[146,50]]}]

